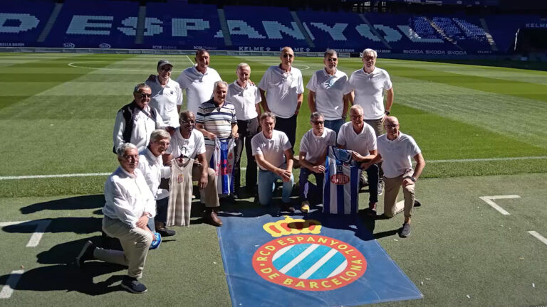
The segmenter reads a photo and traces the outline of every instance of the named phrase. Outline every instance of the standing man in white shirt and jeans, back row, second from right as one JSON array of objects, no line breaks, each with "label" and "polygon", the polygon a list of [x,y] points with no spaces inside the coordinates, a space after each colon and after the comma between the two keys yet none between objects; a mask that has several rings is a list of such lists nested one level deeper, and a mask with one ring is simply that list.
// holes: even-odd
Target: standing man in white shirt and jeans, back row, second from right
[{"label": "standing man in white shirt and jeans, back row, second from right", "polygon": [[348,90],[348,75],[338,70],[338,55],[335,50],[328,49],[323,57],[325,68],[311,75],[306,88],[310,112],[319,112],[325,118],[325,128],[338,134],[340,126],[345,123],[348,114],[350,90]]}]

